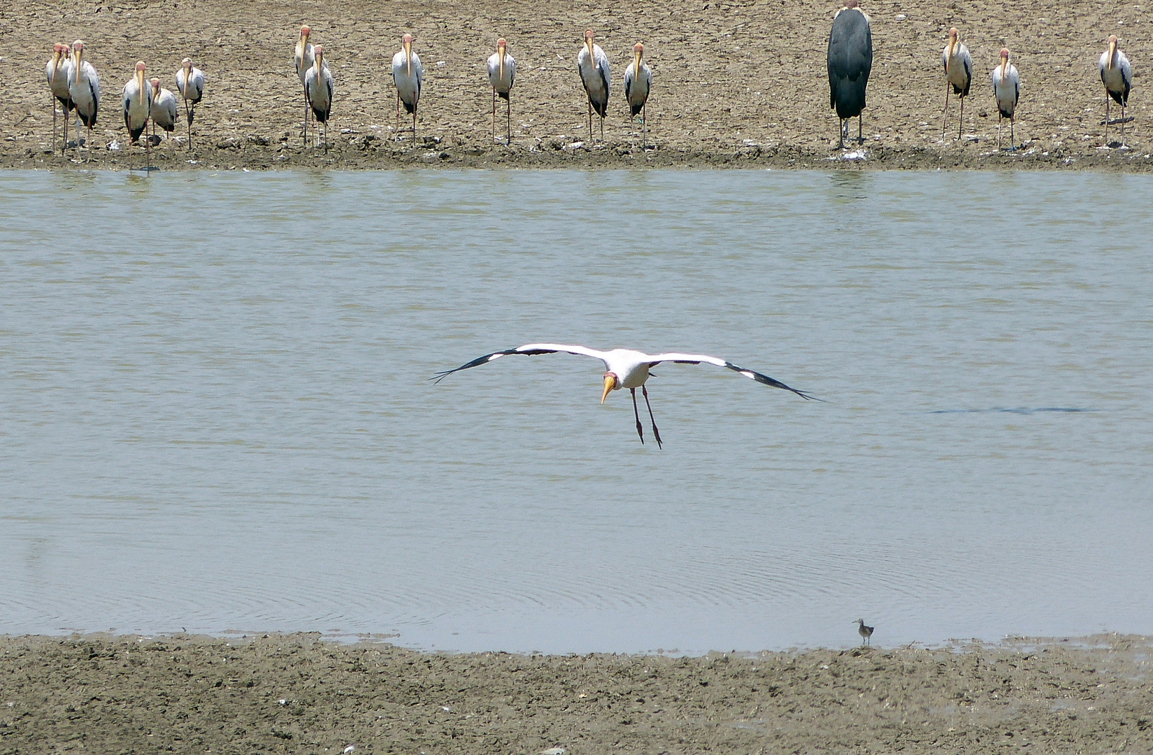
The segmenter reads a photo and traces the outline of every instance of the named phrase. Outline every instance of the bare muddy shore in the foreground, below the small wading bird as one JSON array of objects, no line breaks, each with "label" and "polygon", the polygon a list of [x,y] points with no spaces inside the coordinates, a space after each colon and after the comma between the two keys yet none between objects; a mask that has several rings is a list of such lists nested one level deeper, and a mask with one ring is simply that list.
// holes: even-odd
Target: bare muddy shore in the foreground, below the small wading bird
[{"label": "bare muddy shore in the foreground, below the small wading bird", "polygon": [[1147,753],[1151,642],[678,658],[0,637],[0,753]]}]

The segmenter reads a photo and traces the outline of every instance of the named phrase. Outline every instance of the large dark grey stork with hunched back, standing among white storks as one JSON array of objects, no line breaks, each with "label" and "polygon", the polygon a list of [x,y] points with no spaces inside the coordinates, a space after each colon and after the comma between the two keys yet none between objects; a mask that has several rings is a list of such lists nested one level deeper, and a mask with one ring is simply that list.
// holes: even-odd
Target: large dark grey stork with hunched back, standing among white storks
[{"label": "large dark grey stork with hunched back, standing among white storks", "polygon": [[841,121],[841,149],[845,149],[849,119],[853,116],[857,118],[857,143],[864,144],[860,118],[865,110],[865,88],[873,70],[873,32],[857,0],[845,0],[845,7],[832,17],[828,60],[829,107],[837,110]]}]

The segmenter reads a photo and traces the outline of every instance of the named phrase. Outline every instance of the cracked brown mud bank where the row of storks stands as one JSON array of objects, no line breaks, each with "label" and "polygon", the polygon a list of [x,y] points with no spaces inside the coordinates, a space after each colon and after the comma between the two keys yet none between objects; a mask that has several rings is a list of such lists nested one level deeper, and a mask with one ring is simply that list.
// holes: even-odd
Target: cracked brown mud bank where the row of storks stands
[{"label": "cracked brown mud bank where the row of storks stands", "polygon": [[[1150,171],[1148,18],[1131,2],[1002,3],[993,0],[865,0],[873,20],[874,67],[864,152],[836,149],[824,51],[839,2],[651,0],[570,9],[555,2],[239,3],[225,0],[13,0],[0,10],[0,166],[142,165],[128,153],[120,90],[143,59],[175,89],[190,55],[208,76],[194,149],[167,142],[152,163],[173,168],[375,168],[406,165],[600,167],[1048,167]],[[292,63],[301,23],[325,47],[337,95],[327,151],[302,146],[302,96]],[[941,50],[962,30],[975,73],[957,133],[951,98],[941,138]],[[589,139],[575,73],[581,33],[591,28],[612,63],[604,141]],[[416,37],[425,84],[420,133],[394,131],[391,58],[404,31]],[[1136,71],[1126,126],[1130,149],[1105,145],[1103,89],[1097,61],[1117,33]],[[512,146],[493,144],[484,61],[498,36],[517,58]],[[93,148],[51,154],[52,111],[44,77],[53,41],[83,38],[101,76]],[[654,149],[625,110],[620,77],[642,40],[654,70],[648,126]],[[1022,149],[996,150],[988,73],[1002,45],[1020,69],[1016,135]],[[503,105],[503,103],[502,103]],[[1116,113],[1114,113],[1116,115]],[[183,136],[183,123],[176,131]],[[852,131],[856,134],[856,122]],[[1005,129],[1008,131],[1008,128]],[[1008,138],[1008,134],[1004,134]],[[1110,131],[1110,141],[1115,137]],[[398,141],[399,139],[399,141]],[[119,151],[107,145],[119,142]]]}]

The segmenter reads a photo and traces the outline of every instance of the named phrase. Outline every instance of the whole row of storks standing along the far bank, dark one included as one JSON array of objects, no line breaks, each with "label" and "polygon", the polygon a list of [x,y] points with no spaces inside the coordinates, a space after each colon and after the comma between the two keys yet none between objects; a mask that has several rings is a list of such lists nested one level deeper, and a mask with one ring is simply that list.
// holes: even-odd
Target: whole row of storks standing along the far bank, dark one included
[{"label": "whole row of storks standing along the far bank, dark one included", "polygon": [[[1116,36],[1110,36],[1108,47],[1101,54],[1099,71],[1106,92],[1106,139],[1110,122],[1121,123],[1121,139],[1124,143],[1125,106],[1132,85],[1132,68],[1121,51]],[[645,46],[636,43],[633,46],[633,60],[625,70],[623,78],[625,100],[630,118],[641,116],[642,146],[647,148],[648,126],[646,123],[647,103],[653,85],[653,71],[642,60]],[[327,146],[326,124],[332,114],[334,85],[332,73],[325,63],[324,47],[312,45],[311,30],[301,27],[293,55],[296,76],[300,78],[304,97],[303,139],[308,144],[309,120],[325,127],[316,135],[316,144]],[[1017,101],[1020,97],[1020,73],[1010,61],[1008,48],[1001,50],[1001,62],[990,75],[993,96],[997,105],[997,148],[1001,146],[1001,123],[1009,119],[1009,149],[1016,149],[1013,123]],[[949,116],[949,96],[956,95],[960,100],[960,116],[957,127],[957,138],[962,138],[965,114],[965,98],[970,95],[973,80],[973,60],[969,48],[960,41],[957,29],[949,30],[949,40],[942,52],[945,78],[944,113],[942,114],[941,136],[944,137]],[[849,136],[849,120],[857,118],[857,141],[864,143],[861,133],[861,112],[865,110],[865,92],[868,86],[869,73],[873,68],[873,36],[869,18],[858,7],[858,0],[845,0],[832,20],[829,33],[828,73],[829,106],[837,112],[839,119],[838,144],[845,146]],[[593,138],[593,114],[601,121],[601,138],[604,138],[604,119],[609,112],[609,90],[612,75],[609,58],[593,39],[593,31],[585,32],[585,41],[576,55],[576,70],[588,99],[588,130]],[[156,128],[171,134],[175,129],[178,118],[176,96],[160,86],[158,78],[145,78],[145,63],[136,63],[135,74],[123,86],[121,105],[123,107],[125,128],[129,134],[129,144],[138,142],[140,136],[152,123],[153,135],[145,139],[145,151],[159,142],[155,135]],[[96,124],[100,106],[100,80],[96,69],[84,60],[84,43],[76,40],[69,47],[65,44],[53,45],[52,58],[46,67],[48,86],[52,90],[53,108],[53,150],[56,137],[56,101],[63,108],[65,128],[61,153],[68,145],[68,118],[76,113],[76,145],[91,141],[92,127]],[[512,143],[512,88],[517,75],[517,61],[508,54],[508,44],[497,40],[497,52],[488,60],[489,84],[492,86],[492,138],[496,141],[497,98],[505,100],[505,143]],[[413,36],[406,33],[401,38],[401,48],[392,58],[392,81],[397,91],[397,127],[400,131],[400,106],[413,116],[413,137],[416,137],[416,108],[421,98],[421,86],[424,82],[424,70],[420,55],[413,50]],[[176,90],[184,103],[184,116],[188,121],[188,145],[193,142],[193,116],[196,104],[204,96],[204,73],[184,58],[175,74]],[[1121,105],[1120,121],[1110,121],[1109,100]],[[88,139],[80,138],[80,127],[88,128]]]}]

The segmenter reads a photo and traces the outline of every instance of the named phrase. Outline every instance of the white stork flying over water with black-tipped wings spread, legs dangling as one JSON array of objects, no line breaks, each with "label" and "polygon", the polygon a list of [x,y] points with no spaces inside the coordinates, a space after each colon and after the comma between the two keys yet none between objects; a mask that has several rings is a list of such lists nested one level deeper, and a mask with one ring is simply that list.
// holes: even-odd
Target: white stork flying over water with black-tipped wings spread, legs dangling
[{"label": "white stork flying over water with black-tipped wings spread, legs dangling", "polygon": [[[601,403],[604,403],[604,399],[609,395],[610,391],[628,388],[628,391],[633,394],[633,416],[636,418],[636,435],[640,436],[641,443],[643,444],[645,430],[641,428],[641,415],[640,410],[636,408],[636,388],[640,388],[641,393],[645,395],[645,406],[648,407],[649,421],[653,423],[653,437],[656,438],[656,445],[658,448],[661,447],[661,433],[656,429],[656,420],[653,418],[653,406],[648,401],[648,390],[645,387],[645,382],[648,380],[651,375],[649,372],[649,368],[656,367],[661,362],[677,362],[679,364],[700,364],[701,362],[707,362],[708,364],[724,367],[733,370],[734,372],[739,372],[745,377],[756,380],[763,385],[771,385],[775,388],[792,391],[802,399],[814,398],[804,391],[791,388],[784,383],[775,380],[767,375],[761,375],[760,372],[754,372],[753,370],[746,370],[743,367],[737,367],[731,362],[726,362],[725,360],[721,360],[715,356],[677,353],[643,354],[641,352],[633,352],[624,348],[612,349],[611,352],[597,352],[596,349],[586,348],[583,346],[566,346],[564,343],[526,343],[525,346],[518,346],[517,348],[510,348],[503,352],[492,352],[491,354],[480,356],[467,364],[461,364],[454,370],[437,372],[430,379],[435,383],[439,383],[453,372],[487,364],[488,362],[498,360],[502,356],[507,356],[510,354],[535,356],[537,354],[557,353],[591,356],[604,362],[606,372],[604,373],[604,392],[601,394]],[[820,401],[820,399],[817,399],[817,401]]]}]

